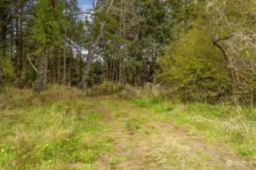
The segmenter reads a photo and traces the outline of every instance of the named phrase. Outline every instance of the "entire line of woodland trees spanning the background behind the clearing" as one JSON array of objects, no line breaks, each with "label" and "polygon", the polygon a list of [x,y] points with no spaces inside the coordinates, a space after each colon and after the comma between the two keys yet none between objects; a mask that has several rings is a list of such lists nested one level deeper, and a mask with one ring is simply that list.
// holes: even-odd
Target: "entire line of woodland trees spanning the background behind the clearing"
[{"label": "entire line of woodland trees spanning the background behind the clearing", "polygon": [[3,82],[20,88],[151,82],[182,101],[256,101],[255,0],[1,0],[0,39]]}]

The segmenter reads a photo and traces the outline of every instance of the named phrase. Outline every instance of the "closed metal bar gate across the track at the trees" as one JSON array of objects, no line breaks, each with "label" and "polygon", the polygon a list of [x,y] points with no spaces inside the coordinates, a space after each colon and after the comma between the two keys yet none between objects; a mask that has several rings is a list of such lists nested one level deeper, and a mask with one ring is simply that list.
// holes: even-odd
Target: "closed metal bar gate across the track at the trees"
[{"label": "closed metal bar gate across the track at the trees", "polygon": [[114,84],[87,85],[87,96],[106,95],[114,93]]}]

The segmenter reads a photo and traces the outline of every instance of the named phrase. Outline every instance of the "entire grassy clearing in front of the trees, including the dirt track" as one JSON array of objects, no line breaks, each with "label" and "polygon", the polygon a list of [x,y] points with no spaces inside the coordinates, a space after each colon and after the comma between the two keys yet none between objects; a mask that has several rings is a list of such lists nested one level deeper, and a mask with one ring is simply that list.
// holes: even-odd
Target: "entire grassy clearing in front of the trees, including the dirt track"
[{"label": "entire grassy clearing in front of the trees, including the dirt track", "polygon": [[255,169],[256,110],[11,88],[0,140],[0,169]]}]

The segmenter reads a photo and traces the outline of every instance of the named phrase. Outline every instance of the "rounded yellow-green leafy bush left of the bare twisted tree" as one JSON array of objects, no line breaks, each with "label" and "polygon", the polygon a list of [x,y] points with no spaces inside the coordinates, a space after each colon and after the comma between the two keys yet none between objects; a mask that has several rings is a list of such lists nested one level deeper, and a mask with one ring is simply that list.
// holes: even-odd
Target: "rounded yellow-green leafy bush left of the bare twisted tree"
[{"label": "rounded yellow-green leafy bush left of the bare twisted tree", "polygon": [[201,27],[191,29],[172,44],[160,63],[163,73],[156,77],[156,82],[176,88],[182,100],[214,101],[229,90],[220,52],[212,47]]}]

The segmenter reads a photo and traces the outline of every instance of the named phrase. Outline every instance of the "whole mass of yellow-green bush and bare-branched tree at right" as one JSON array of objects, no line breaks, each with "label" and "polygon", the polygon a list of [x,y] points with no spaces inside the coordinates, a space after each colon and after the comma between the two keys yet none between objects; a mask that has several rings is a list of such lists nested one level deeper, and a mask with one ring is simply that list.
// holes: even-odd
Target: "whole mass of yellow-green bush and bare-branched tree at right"
[{"label": "whole mass of yellow-green bush and bare-branched tree at right", "polygon": [[251,56],[255,50],[254,36],[250,36],[254,32],[249,30],[254,30],[254,5],[239,1],[188,5],[188,16],[194,17],[187,16],[187,27],[179,30],[160,58],[163,70],[155,81],[168,85],[183,101],[228,101],[253,107],[255,60]]}]

